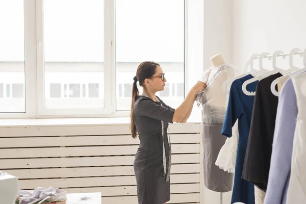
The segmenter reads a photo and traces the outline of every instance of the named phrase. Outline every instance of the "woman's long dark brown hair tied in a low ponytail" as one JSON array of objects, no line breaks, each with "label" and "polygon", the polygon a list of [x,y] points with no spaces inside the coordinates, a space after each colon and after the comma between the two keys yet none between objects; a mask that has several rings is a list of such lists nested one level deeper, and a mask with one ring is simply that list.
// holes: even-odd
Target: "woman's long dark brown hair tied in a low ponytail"
[{"label": "woman's long dark brown hair tied in a low ponytail", "polygon": [[151,78],[152,75],[156,72],[156,67],[160,66],[159,64],[155,62],[142,62],[136,71],[136,78],[134,78],[133,88],[132,88],[132,105],[131,105],[131,132],[132,137],[137,137],[137,130],[136,125],[134,121],[134,104],[137,96],[139,96],[139,91],[137,88],[137,81],[139,82],[139,85],[144,89],[144,80]]}]

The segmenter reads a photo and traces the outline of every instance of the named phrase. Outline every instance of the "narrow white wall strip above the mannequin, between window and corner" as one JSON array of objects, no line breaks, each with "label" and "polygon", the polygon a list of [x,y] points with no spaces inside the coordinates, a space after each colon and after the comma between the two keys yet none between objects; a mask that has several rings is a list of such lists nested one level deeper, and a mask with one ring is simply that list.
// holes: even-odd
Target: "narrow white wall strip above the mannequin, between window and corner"
[{"label": "narrow white wall strip above the mannequin, between window and corner", "polygon": [[232,63],[232,1],[204,1],[204,70],[211,66],[210,58],[222,53]]}]

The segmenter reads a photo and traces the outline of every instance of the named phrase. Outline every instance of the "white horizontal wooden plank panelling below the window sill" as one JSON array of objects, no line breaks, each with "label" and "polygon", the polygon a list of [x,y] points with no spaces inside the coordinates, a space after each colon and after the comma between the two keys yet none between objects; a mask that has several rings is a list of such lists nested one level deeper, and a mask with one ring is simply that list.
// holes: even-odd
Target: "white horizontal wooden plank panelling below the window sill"
[{"label": "white horizontal wooden plank panelling below the window sill", "polygon": [[[171,200],[200,202],[200,125],[171,124]],[[0,127],[0,170],[20,189],[101,192],[102,203],[138,203],[129,125]]]}]

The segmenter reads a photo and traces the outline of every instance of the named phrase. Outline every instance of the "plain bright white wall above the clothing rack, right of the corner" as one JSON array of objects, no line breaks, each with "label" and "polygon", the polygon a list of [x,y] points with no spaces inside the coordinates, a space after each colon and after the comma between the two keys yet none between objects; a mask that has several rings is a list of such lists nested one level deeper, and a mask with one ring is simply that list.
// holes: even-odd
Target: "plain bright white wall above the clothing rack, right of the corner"
[{"label": "plain bright white wall above the clothing rack, right of the corner", "polygon": [[[244,66],[254,53],[304,49],[305,9],[304,0],[233,0],[233,62]],[[288,59],[281,59],[277,59],[278,66],[287,68]],[[301,61],[295,60],[295,65]]]}]

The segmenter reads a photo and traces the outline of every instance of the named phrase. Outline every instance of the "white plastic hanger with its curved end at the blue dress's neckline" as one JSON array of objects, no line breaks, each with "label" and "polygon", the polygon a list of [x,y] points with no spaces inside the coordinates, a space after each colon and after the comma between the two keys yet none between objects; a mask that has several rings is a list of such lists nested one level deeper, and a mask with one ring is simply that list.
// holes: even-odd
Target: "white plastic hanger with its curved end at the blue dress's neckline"
[{"label": "white plastic hanger with its curved end at the blue dress's neckline", "polygon": [[[265,74],[262,74],[262,75],[259,75],[258,77],[254,77],[250,80],[247,80],[245,81],[243,84],[242,84],[242,91],[244,94],[246,95],[249,95],[249,96],[252,96],[252,95],[255,95],[255,91],[254,92],[250,92],[248,90],[246,90],[246,86],[253,83],[253,82],[256,82],[258,80],[262,80],[266,77],[269,77],[271,74],[274,74],[274,73],[277,73],[277,72],[281,72],[281,71],[284,71],[284,69],[281,69],[281,68],[278,68],[276,67],[276,57],[279,55],[279,54],[284,54],[283,51],[281,50],[278,50],[276,51],[273,56],[272,56],[272,64],[273,64],[273,70],[272,71],[269,71],[269,72],[266,72]],[[283,58],[285,59],[286,56],[283,56]]]}]

